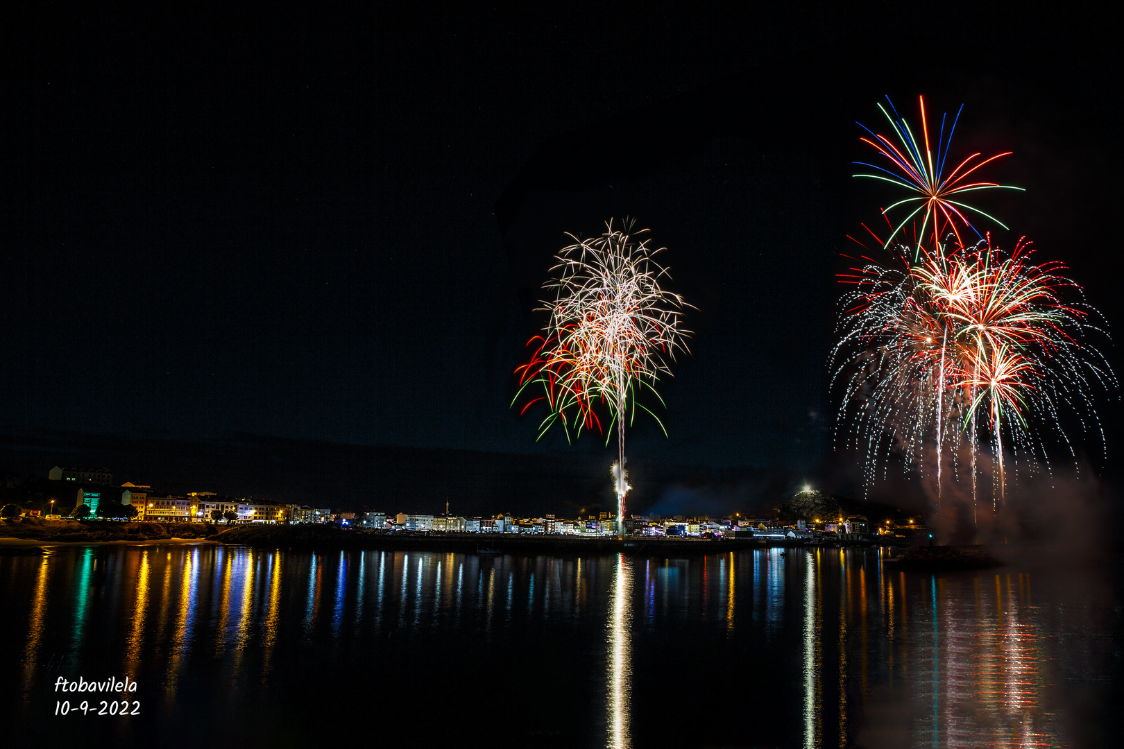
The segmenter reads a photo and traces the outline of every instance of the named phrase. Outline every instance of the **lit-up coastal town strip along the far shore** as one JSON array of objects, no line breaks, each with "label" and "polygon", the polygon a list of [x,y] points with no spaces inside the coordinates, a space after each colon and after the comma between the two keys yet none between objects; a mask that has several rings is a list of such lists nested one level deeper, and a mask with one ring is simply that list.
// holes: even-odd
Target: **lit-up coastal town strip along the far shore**
[{"label": "lit-up coastal town strip along the far shore", "polygon": [[[499,513],[491,517],[462,517],[406,512],[344,511],[308,504],[272,502],[220,495],[215,492],[157,492],[149,485],[114,482],[108,468],[71,468],[55,466],[47,475],[62,482],[52,492],[46,506],[3,505],[3,514],[39,517],[44,520],[130,520],[138,522],[217,524],[323,524],[364,532],[380,533],[508,533],[551,535],[586,538],[614,536],[681,539],[755,539],[767,542],[831,542],[912,538],[922,527],[916,518],[871,519],[844,512],[837,505],[824,503],[817,492],[805,487],[773,517],[733,513],[726,517],[707,514],[631,515],[625,527],[608,512],[580,512],[577,517],[555,514],[514,517]],[[67,502],[66,497],[73,497]],[[25,504],[35,504],[34,502]],[[43,504],[40,502],[40,504]],[[804,515],[797,518],[796,515]]]}]

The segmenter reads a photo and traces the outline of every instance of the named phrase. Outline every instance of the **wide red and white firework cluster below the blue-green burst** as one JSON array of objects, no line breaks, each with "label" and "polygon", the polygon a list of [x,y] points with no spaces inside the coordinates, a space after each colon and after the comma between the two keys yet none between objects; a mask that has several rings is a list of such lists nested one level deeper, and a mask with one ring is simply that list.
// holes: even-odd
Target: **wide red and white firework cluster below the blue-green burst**
[{"label": "wide red and white firework cluster below the blue-green burst", "polygon": [[[1001,501],[1004,433],[1016,454],[1046,462],[1036,423],[1067,445],[1063,411],[1079,414],[1082,429],[1099,431],[1090,393],[1115,386],[1115,378],[1082,342],[1098,330],[1089,321],[1096,310],[1084,301],[1064,303],[1063,292],[1080,296],[1080,287],[1061,275],[1061,264],[1032,263],[1024,243],[1010,253],[989,241],[935,249],[918,244],[916,250],[897,245],[891,263],[867,258],[844,278],[856,289],[844,296],[833,351],[845,393],[840,422],[854,409],[855,439],[867,441],[868,481],[886,437],[907,466],[921,465],[925,449],[934,448],[939,497],[944,450],[955,456],[967,438],[975,485],[977,440],[989,439]],[[1104,446],[1103,432],[1100,438]]]}]

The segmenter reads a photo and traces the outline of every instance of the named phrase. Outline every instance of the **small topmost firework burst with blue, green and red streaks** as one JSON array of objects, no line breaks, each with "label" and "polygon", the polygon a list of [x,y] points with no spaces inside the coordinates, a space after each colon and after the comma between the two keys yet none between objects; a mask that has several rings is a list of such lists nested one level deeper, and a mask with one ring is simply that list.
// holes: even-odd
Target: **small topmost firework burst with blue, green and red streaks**
[{"label": "small topmost firework burst with blue, green and red streaks", "polygon": [[[894,238],[910,221],[915,226],[919,221],[921,230],[917,231],[918,239],[926,241],[931,239],[931,246],[934,247],[941,244],[948,232],[952,232],[955,236],[958,244],[963,244],[964,239],[960,232],[966,228],[971,229],[979,239],[982,239],[984,235],[972,226],[966,211],[990,219],[1006,229],[1007,227],[998,219],[963,201],[966,193],[980,190],[1022,190],[1022,188],[1010,188],[997,182],[979,181],[978,176],[973,176],[973,173],[984,165],[1003,156],[1009,156],[1012,152],[996,154],[990,158],[980,158],[981,154],[972,154],[957,164],[955,167],[948,170],[952,163],[949,161],[949,146],[952,144],[952,135],[955,133],[957,124],[960,121],[960,112],[963,111],[963,104],[957,111],[957,117],[949,128],[948,138],[944,137],[948,115],[941,115],[941,129],[937,134],[934,161],[934,153],[928,137],[928,120],[925,117],[925,98],[918,97],[917,101],[921,107],[921,140],[914,137],[909,124],[904,117],[898,115],[889,97],[886,98],[886,103],[890,108],[889,111],[882,104],[878,104],[878,108],[890,124],[890,128],[892,128],[895,135],[894,138],[877,135],[867,126],[856,122],[859,127],[870,135],[870,138],[863,137],[861,140],[873,146],[882,158],[878,159],[878,164],[854,162],[860,166],[867,166],[876,172],[876,174],[855,174],[854,176],[889,182],[913,193],[912,197],[898,200],[888,208],[882,209],[882,214],[887,216],[887,221],[889,221],[888,214],[890,211],[898,208],[907,211],[906,217],[896,227],[892,223],[890,225],[892,231],[887,237],[883,247],[889,247]],[[892,116],[890,112],[892,112]]]}]

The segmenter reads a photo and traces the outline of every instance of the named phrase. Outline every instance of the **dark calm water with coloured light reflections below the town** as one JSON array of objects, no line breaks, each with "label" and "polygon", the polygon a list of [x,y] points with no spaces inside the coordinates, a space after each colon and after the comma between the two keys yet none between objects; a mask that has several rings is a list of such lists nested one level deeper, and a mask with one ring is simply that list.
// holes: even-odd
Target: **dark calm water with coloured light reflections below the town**
[{"label": "dark calm water with coloured light reflections below the town", "polygon": [[[923,575],[881,555],[0,557],[4,725],[49,746],[1114,743],[1115,561]],[[54,691],[110,676],[138,714]]]}]

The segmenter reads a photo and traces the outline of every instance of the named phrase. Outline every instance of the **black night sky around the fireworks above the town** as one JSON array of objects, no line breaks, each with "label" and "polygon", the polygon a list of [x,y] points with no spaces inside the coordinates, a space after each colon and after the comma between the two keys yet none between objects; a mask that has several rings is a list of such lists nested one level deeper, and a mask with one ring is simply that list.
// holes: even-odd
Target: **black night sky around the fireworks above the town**
[{"label": "black night sky around the fireworks above the town", "polygon": [[629,214],[699,308],[671,437],[631,450],[823,471],[882,94],[966,103],[954,150],[1015,150],[992,174],[1028,190],[988,203],[1000,244],[1121,319],[1107,18],[390,4],[3,11],[0,431],[604,450],[536,445],[511,371],[563,232]]}]

